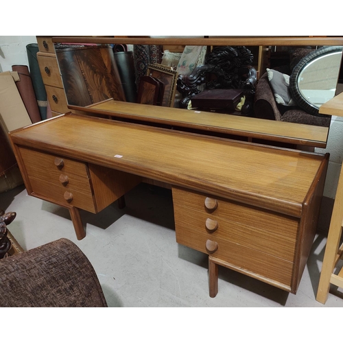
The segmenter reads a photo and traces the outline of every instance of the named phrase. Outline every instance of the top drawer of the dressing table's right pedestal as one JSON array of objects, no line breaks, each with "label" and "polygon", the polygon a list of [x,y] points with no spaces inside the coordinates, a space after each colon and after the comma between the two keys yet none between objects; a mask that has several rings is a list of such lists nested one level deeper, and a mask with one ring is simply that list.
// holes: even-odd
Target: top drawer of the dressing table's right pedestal
[{"label": "top drawer of the dressing table's right pedestal", "polygon": [[[205,194],[172,188],[174,206],[209,213],[213,219],[223,218],[263,230],[265,233],[297,239],[299,219],[281,213],[240,204],[229,200],[206,196]],[[206,202],[206,204],[205,204]],[[215,209],[207,207],[215,206]]]}]

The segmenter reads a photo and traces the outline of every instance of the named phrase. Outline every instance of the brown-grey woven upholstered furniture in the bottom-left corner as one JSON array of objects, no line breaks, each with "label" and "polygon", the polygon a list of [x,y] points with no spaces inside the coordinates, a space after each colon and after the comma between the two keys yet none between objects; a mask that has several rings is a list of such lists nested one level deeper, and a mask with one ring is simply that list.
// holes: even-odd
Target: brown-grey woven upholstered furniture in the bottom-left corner
[{"label": "brown-grey woven upholstered furniture in the bottom-left corner", "polygon": [[58,239],[0,260],[0,307],[107,307],[84,253]]}]

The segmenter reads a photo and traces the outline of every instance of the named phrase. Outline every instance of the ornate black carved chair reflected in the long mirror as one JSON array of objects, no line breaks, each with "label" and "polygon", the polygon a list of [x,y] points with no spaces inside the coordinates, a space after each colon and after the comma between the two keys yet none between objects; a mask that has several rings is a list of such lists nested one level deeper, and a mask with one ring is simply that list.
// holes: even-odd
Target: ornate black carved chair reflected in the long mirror
[{"label": "ornate black carved chair reflected in the long mirror", "polygon": [[255,96],[257,74],[252,67],[254,56],[246,47],[215,47],[206,55],[205,64],[196,67],[190,75],[179,75],[177,89],[182,95],[180,108],[187,108],[189,100],[205,89],[242,89],[246,104],[242,108],[250,113]]}]

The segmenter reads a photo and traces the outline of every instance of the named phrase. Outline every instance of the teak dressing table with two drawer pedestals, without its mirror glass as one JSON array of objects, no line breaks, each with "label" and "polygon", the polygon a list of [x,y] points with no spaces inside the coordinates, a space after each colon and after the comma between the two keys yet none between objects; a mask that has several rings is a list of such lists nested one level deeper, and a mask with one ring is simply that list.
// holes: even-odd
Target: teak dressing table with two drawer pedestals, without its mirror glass
[{"label": "teak dressing table with two drawer pedestals, without its mirror glass", "polygon": [[[75,38],[60,38],[68,40]],[[243,120],[238,123],[224,115],[226,126],[213,114],[219,121],[209,125],[206,115],[197,122],[193,113],[182,119],[178,108],[113,99],[68,107],[70,113],[10,132],[10,140],[27,193],[68,208],[78,239],[85,237],[79,209],[98,213],[145,178],[165,182],[176,241],[209,255],[210,296],[217,294],[217,265],[296,294],[316,233],[329,154],[252,139],[325,146],[327,128],[282,123],[290,126],[280,134],[278,122],[232,116]],[[115,120],[126,116],[139,123]]]}]

